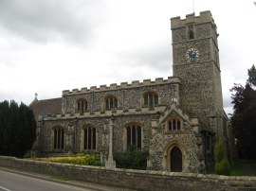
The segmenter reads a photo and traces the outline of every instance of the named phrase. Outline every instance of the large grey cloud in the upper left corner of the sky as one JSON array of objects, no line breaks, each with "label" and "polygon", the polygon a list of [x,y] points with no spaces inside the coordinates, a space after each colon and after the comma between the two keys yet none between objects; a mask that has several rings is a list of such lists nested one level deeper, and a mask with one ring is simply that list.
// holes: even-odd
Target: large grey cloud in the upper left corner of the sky
[{"label": "large grey cloud in the upper left corner of the sky", "polygon": [[99,14],[102,7],[96,2],[100,3],[99,0],[0,0],[0,26],[33,42],[58,38],[86,41],[102,17]]}]

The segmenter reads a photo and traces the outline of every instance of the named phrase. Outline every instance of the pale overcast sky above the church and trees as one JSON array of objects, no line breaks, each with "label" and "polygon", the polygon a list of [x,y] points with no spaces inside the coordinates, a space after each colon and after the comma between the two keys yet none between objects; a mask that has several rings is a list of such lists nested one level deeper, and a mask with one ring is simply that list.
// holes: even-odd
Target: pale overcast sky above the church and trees
[{"label": "pale overcast sky above the church and trees", "polygon": [[224,106],[256,63],[253,0],[0,0],[0,101],[173,76],[170,18],[210,10]]}]

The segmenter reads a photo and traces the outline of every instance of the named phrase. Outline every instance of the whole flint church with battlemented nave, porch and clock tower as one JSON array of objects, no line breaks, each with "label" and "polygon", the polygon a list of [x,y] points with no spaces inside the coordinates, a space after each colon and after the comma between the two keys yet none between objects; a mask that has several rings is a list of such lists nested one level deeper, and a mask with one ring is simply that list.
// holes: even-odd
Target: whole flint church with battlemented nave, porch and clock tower
[{"label": "whole flint church with battlemented nave, porch and clock tower", "polygon": [[[217,26],[208,10],[172,18],[171,29],[172,77],[64,90],[61,98],[35,99],[30,107],[39,121],[33,148],[45,156],[101,153],[106,161],[112,149],[134,147],[148,151],[147,169],[192,173],[214,164],[216,141],[229,157]],[[54,111],[53,105],[59,108]]]}]

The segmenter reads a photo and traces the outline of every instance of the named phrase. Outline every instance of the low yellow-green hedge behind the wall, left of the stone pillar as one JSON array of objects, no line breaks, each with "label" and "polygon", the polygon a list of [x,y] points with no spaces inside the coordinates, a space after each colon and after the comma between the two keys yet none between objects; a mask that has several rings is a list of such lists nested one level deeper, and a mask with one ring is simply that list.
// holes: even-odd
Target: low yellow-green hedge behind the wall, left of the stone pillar
[{"label": "low yellow-green hedge behind the wall, left of the stone pillar", "polygon": [[48,157],[35,158],[33,160],[73,165],[101,165],[101,156],[99,154],[78,154],[75,157]]}]

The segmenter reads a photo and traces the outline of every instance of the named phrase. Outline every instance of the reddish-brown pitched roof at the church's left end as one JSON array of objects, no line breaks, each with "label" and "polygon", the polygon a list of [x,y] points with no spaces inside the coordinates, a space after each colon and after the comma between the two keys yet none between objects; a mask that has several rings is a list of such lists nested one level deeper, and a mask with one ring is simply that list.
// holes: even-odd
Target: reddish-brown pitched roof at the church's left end
[{"label": "reddish-brown pitched roof at the church's left end", "polygon": [[35,98],[29,108],[32,109],[36,121],[38,121],[40,116],[45,116],[46,114],[62,113],[62,97],[37,100]]}]

